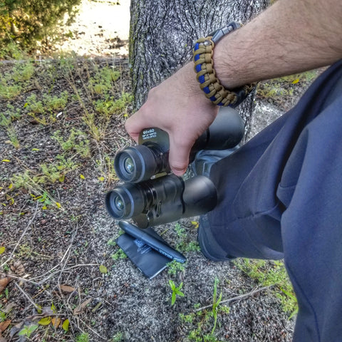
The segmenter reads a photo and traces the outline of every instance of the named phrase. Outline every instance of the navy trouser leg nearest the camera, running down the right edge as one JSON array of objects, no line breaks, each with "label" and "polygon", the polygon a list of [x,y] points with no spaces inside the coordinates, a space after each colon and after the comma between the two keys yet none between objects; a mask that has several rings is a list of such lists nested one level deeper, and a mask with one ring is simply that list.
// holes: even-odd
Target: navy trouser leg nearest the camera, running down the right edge
[{"label": "navy trouser leg nearest the camera, running down the right edge", "polygon": [[299,302],[294,341],[342,339],[341,137],[342,95],[301,133],[277,190],[286,206],[285,264]]}]

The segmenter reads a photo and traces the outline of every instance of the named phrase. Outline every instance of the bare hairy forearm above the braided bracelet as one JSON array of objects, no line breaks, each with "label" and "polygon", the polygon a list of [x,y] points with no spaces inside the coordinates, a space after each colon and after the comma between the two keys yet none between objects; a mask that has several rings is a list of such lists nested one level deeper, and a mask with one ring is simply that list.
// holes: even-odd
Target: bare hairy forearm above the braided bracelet
[{"label": "bare hairy forearm above the braided bracelet", "polygon": [[226,88],[290,75],[342,58],[341,0],[278,0],[214,48]]}]

